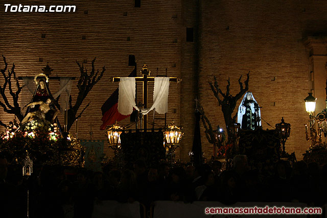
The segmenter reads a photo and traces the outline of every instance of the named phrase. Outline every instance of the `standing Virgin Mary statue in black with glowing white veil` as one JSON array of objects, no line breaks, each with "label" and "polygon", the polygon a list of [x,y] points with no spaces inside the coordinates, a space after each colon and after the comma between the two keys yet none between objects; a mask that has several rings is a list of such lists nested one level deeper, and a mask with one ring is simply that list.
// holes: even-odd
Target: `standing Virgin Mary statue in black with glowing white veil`
[{"label": "standing Virgin Mary statue in black with glowing white veil", "polygon": [[261,126],[261,112],[258,103],[255,101],[252,92],[244,94],[239,106],[237,120],[242,130],[255,130]]}]

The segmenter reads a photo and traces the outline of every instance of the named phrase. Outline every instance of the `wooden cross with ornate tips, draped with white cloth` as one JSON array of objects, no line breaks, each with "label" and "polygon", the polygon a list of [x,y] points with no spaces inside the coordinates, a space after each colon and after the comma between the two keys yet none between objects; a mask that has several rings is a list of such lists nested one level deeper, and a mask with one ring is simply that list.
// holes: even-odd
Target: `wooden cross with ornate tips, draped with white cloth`
[{"label": "wooden cross with ornate tips, draped with white cloth", "polygon": [[[144,64],[141,70],[143,77],[135,77],[135,82],[143,83],[143,105],[145,108],[148,108],[148,82],[154,82],[155,77],[148,77],[150,75],[150,70],[148,70],[147,64]],[[166,75],[167,76],[167,75]],[[120,82],[120,77],[112,77],[112,82]],[[170,77],[169,82],[179,83],[180,78]],[[143,115],[143,128],[147,130],[147,115]]]}]

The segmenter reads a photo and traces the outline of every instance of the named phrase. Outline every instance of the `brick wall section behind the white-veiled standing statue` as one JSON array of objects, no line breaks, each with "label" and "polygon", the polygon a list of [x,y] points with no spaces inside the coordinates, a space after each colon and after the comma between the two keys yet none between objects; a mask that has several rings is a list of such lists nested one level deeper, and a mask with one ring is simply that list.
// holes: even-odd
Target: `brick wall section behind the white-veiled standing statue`
[{"label": "brick wall section behind the white-veiled standing statue", "polygon": [[[291,124],[286,151],[295,151],[297,159],[302,159],[309,145],[303,126],[309,117],[303,99],[312,88],[309,51],[302,39],[325,35],[326,4],[315,1],[202,2],[200,93],[201,104],[213,125],[224,127],[224,121],[208,81],[216,76],[224,91],[229,77],[231,93],[235,95],[239,91],[238,78],[242,75],[245,79],[250,71],[249,91],[262,107],[262,118],[273,127],[281,122],[282,116]],[[263,128],[272,129],[264,120]],[[206,142],[204,152],[211,153],[204,134],[202,142]]]}]

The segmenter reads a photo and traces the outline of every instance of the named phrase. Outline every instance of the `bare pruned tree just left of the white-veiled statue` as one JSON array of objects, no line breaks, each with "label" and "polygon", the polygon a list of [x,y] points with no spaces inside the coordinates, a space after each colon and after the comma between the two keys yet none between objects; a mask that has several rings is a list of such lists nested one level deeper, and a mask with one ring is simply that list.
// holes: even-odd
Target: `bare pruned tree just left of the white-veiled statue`
[{"label": "bare pruned tree just left of the white-veiled statue", "polygon": [[[231,125],[233,125],[235,123],[236,117],[237,117],[237,112],[234,116],[232,116],[232,113],[236,107],[236,103],[237,101],[245,94],[245,92],[249,89],[249,75],[250,75],[250,71],[247,73],[247,78],[244,81],[245,84],[245,88],[243,87],[243,83],[241,82],[242,76],[239,78],[239,85],[240,85],[240,91],[239,93],[237,93],[235,96],[230,94],[230,80],[228,78],[227,80],[227,86],[226,86],[226,92],[222,92],[222,90],[220,89],[217,79],[216,77],[214,77],[215,82],[214,84],[212,84],[211,82],[209,82],[209,85],[211,86],[211,90],[214,92],[214,95],[216,97],[216,99],[218,100],[219,105],[221,106],[221,110],[223,112],[224,115],[224,120],[225,120],[225,125],[226,127],[230,127]],[[221,98],[222,96],[222,98]],[[202,115],[202,123],[203,126],[205,128],[205,135],[209,141],[209,143],[212,143],[212,141],[214,140],[214,135],[212,133],[213,129],[212,126],[209,122],[209,119],[204,115],[204,111],[203,108],[201,107],[200,109],[200,113]],[[227,131],[228,136],[230,137],[230,133],[229,131]]]}]

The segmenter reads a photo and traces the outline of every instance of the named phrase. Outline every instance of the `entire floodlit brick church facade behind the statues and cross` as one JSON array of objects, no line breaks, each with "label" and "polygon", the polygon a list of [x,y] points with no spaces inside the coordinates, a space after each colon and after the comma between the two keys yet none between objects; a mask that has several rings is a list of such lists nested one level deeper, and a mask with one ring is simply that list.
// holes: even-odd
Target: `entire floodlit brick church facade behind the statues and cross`
[{"label": "entire floodlit brick church facade behind the statues and cross", "polygon": [[[57,3],[41,4],[49,7]],[[53,75],[78,77],[76,60],[90,69],[97,57],[96,69],[105,66],[106,71],[80,108],[90,102],[78,122],[79,138],[89,139],[92,131],[92,139],[106,140],[100,131],[101,106],[118,87],[110,78],[127,77],[134,69],[130,60],[135,57],[138,71],[146,63],[151,76],[164,76],[167,68],[169,77],[182,79],[180,84],[170,84],[167,113],[167,123],[173,119],[184,128],[177,151],[180,159],[188,161],[192,150],[196,98],[213,127],[225,128],[221,107],[208,82],[216,77],[224,91],[230,78],[230,91],[236,94],[239,77],[245,80],[248,71],[249,91],[262,107],[262,127],[273,129],[284,117],[291,124],[286,151],[295,151],[297,159],[302,159],[310,144],[305,139],[304,124],[309,116],[303,99],[314,92],[318,113],[326,98],[327,2],[121,0],[90,4],[81,0],[65,4],[76,5],[76,11],[5,12],[0,6],[0,54],[9,66],[15,63],[18,76],[34,76],[49,62]],[[76,85],[77,81],[73,82],[73,101],[78,93]],[[50,81],[49,87],[56,90],[59,82]],[[148,90],[152,96],[153,85]],[[137,101],[141,100],[142,87],[138,86]],[[63,120],[62,114],[58,117]],[[164,126],[164,117],[156,113],[155,124]],[[2,122],[13,118],[1,110]],[[153,112],[148,120],[152,122]],[[120,123],[127,125],[130,119]],[[213,148],[202,124],[201,139],[208,158]]]}]

